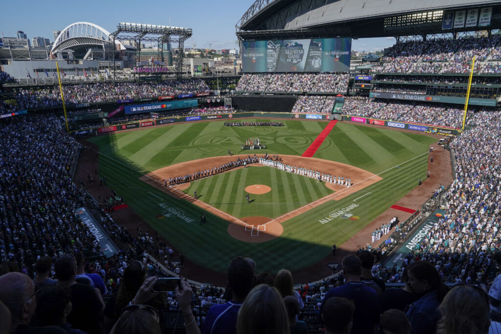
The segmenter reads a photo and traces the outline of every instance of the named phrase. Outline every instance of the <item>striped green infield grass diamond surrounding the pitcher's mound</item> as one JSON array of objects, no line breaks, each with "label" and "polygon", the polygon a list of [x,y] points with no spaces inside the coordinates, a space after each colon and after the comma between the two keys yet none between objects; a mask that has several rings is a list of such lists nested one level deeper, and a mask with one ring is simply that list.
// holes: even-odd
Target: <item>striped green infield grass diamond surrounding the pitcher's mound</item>
[{"label": "striped green infield grass diamond surrounding the pitcher's mound", "polygon": [[[251,194],[252,202],[247,205],[244,189],[253,184],[264,184],[272,190]],[[334,192],[324,182],[267,166],[249,166],[194,181],[184,192],[193,194],[194,190],[201,201],[236,218],[277,218]]]}]

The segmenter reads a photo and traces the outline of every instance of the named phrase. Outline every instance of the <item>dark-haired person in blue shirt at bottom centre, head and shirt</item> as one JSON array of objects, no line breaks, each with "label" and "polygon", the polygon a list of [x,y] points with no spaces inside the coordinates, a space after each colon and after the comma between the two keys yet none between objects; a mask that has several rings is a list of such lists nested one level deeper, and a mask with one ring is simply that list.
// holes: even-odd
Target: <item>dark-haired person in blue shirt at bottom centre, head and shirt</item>
[{"label": "dark-haired person in blue shirt at bottom centre, head and shirt", "polygon": [[252,264],[241,256],[235,257],[228,266],[228,287],[231,290],[231,300],[209,308],[202,326],[202,333],[236,333],[238,310],[253,286],[254,268]]}]

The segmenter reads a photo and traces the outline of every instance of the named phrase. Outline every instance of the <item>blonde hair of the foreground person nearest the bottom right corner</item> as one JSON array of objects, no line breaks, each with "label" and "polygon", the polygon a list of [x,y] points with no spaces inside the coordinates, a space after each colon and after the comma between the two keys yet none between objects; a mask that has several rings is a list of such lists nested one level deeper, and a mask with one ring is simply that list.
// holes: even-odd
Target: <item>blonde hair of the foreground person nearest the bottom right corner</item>
[{"label": "blonde hair of the foreground person nearest the bottom right corner", "polygon": [[490,326],[489,301],[480,288],[461,284],[452,287],[440,304],[439,334],[481,334]]}]

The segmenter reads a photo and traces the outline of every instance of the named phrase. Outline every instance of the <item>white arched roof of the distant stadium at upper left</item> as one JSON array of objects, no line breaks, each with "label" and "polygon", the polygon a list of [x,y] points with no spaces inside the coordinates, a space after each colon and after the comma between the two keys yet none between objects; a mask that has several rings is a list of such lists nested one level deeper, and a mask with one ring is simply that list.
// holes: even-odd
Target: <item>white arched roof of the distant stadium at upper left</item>
[{"label": "white arched roof of the distant stadium at upper left", "polygon": [[[110,47],[110,33],[93,23],[76,22],[66,27],[56,38],[51,50],[52,54],[58,51],[77,48]],[[116,44],[120,44],[118,41]]]}]

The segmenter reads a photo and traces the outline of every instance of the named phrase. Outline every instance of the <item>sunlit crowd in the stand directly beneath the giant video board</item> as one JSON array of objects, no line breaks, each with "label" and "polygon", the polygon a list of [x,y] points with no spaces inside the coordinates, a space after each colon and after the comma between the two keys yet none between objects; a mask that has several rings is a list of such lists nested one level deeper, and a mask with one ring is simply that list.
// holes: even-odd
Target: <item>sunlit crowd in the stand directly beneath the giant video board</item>
[{"label": "sunlit crowd in the stand directly beneath the giant video board", "polygon": [[348,73],[243,74],[235,91],[345,94],[348,80]]}]

